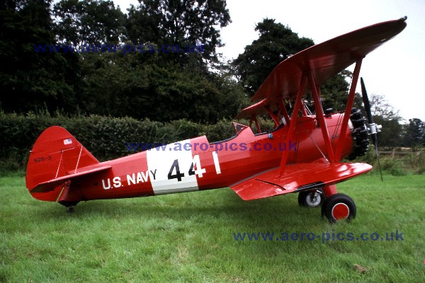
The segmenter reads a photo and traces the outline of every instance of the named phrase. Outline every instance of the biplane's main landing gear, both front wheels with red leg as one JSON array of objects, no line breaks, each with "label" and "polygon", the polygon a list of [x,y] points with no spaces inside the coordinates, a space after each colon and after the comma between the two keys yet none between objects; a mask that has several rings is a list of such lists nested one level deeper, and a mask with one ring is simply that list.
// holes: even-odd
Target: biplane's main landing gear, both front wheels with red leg
[{"label": "biplane's main landing gear, both front wheels with red leg", "polygon": [[332,224],[344,219],[350,221],[356,217],[356,204],[348,195],[336,192],[335,185],[324,187],[323,190],[300,192],[298,204],[306,207],[322,205],[322,216],[326,216]]}]

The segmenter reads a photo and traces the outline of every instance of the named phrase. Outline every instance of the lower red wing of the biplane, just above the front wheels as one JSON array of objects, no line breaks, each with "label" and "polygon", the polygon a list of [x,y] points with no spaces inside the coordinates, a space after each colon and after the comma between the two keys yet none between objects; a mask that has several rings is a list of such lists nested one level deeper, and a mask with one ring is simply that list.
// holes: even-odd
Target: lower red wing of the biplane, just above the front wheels
[{"label": "lower red wing of the biplane, just above the front wheels", "polygon": [[371,169],[372,166],[366,163],[295,163],[286,166],[283,175],[280,175],[280,168],[276,168],[230,188],[242,200],[256,200],[333,185]]}]

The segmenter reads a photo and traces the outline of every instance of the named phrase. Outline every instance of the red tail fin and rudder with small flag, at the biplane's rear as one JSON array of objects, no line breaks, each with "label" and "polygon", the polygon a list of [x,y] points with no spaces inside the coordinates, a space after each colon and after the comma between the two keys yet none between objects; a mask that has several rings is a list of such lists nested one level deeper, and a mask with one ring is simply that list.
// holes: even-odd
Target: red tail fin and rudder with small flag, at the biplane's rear
[{"label": "red tail fin and rudder with small flag, at the biplane's rear", "polygon": [[30,152],[26,187],[36,199],[55,202],[67,180],[81,175],[79,168],[91,173],[99,171],[89,170],[97,164],[99,161],[66,129],[49,127],[40,134]]}]

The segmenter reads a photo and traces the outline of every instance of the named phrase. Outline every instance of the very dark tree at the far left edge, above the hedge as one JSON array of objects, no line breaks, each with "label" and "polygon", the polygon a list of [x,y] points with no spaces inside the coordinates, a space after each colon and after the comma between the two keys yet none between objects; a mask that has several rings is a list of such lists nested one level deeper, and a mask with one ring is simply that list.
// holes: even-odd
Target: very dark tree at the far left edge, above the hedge
[{"label": "very dark tree at the far left edge, above the hedge", "polygon": [[75,105],[67,74],[72,64],[58,53],[35,52],[39,42],[55,43],[51,0],[6,1],[0,10],[1,108],[27,112]]}]

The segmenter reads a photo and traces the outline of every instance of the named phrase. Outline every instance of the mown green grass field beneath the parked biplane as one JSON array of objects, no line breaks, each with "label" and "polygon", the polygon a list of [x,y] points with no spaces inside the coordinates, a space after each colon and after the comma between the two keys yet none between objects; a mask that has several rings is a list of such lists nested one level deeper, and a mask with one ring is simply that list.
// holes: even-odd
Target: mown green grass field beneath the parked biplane
[{"label": "mown green grass field beneath the parked biplane", "polygon": [[[34,200],[24,178],[3,177],[0,282],[425,282],[425,176],[384,178],[339,184],[357,217],[330,225],[295,194],[244,202],[228,188],[83,202],[68,214]],[[238,232],[275,236],[235,241]],[[384,241],[276,241],[283,232]]]}]

